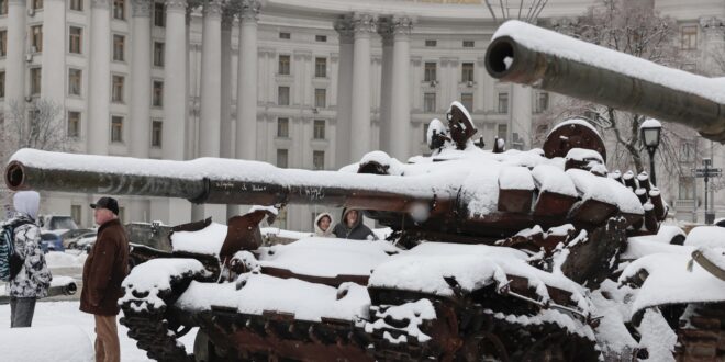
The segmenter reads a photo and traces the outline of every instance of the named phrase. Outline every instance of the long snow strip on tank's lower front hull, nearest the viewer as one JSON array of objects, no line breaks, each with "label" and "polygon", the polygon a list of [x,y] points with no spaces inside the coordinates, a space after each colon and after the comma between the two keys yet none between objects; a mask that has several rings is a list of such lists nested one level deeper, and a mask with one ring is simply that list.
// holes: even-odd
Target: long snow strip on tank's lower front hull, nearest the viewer
[{"label": "long snow strip on tank's lower front hull, nearest the viewer", "polygon": [[297,319],[312,321],[323,317],[356,320],[367,319],[370,296],[365,286],[355,283],[343,283],[335,289],[297,279],[246,273],[236,283],[191,282],[177,305],[191,310],[225,306],[254,315],[266,310],[290,313]]}]

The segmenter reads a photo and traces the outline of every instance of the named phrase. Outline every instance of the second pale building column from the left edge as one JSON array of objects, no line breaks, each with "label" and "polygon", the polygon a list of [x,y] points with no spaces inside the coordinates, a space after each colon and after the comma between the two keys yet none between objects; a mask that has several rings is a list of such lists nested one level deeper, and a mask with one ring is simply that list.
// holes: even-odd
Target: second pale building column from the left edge
[{"label": "second pale building column from the left edge", "polygon": [[[43,56],[41,95],[65,112],[66,98],[66,1],[43,2]],[[48,16],[53,14],[52,16]],[[111,36],[110,33],[107,33]]]}]

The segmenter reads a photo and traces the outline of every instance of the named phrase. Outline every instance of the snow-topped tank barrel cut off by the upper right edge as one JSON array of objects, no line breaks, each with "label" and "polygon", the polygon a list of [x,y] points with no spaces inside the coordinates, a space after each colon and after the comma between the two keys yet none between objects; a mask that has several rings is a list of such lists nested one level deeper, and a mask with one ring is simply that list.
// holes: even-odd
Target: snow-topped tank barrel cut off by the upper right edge
[{"label": "snow-topped tank barrel cut off by the upper right edge", "polygon": [[501,81],[645,114],[725,143],[725,80],[706,78],[518,21],[493,35],[486,69]]}]

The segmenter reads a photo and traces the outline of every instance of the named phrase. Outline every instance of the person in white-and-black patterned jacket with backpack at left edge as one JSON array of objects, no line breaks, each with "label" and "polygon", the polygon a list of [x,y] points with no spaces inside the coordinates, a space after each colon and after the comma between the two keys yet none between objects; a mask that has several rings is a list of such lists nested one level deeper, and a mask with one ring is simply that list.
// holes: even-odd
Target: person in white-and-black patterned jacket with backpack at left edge
[{"label": "person in white-and-black patterned jacket with backpack at left edge", "polygon": [[[5,289],[10,296],[10,328],[30,327],[35,302],[45,297],[53,275],[41,250],[41,228],[35,224],[41,195],[20,191],[13,196],[15,215],[2,228],[12,230],[13,253],[9,256],[10,275]],[[4,260],[3,260],[4,262]]]}]

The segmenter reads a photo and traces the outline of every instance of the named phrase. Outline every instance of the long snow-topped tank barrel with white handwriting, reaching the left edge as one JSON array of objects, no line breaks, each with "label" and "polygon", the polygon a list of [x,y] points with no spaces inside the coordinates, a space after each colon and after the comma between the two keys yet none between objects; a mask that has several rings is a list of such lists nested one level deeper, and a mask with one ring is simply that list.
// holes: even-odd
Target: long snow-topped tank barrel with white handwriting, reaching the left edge
[{"label": "long snow-topped tank barrel with white handwriting, reaching the left edge", "polygon": [[[210,204],[321,204],[409,212],[450,199],[425,177],[281,169],[265,162],[135,159],[21,149],[4,173],[11,190],[181,197]],[[435,210],[431,210],[434,212]]]}]

